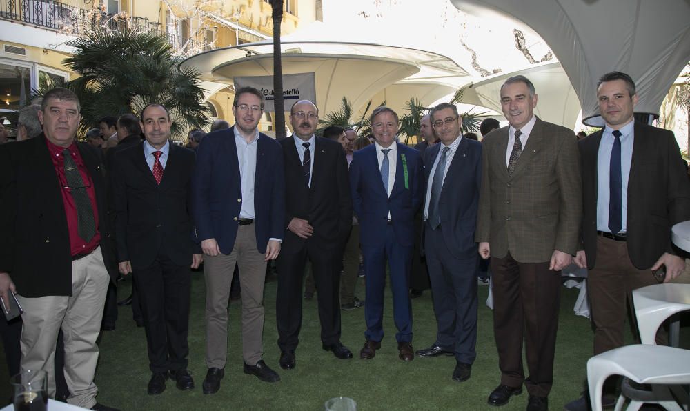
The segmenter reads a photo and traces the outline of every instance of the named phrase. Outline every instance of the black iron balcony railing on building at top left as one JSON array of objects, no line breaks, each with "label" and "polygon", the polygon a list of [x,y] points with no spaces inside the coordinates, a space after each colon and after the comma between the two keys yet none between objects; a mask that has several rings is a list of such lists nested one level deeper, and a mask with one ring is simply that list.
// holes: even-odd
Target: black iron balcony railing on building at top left
[{"label": "black iron balcony railing on building at top left", "polygon": [[75,35],[102,27],[117,31],[152,32],[164,35],[175,50],[186,55],[215,48],[213,44],[164,32],[160,23],[149,21],[146,17],[128,19],[113,16],[99,8],[87,10],[56,0],[0,0],[0,19]]}]

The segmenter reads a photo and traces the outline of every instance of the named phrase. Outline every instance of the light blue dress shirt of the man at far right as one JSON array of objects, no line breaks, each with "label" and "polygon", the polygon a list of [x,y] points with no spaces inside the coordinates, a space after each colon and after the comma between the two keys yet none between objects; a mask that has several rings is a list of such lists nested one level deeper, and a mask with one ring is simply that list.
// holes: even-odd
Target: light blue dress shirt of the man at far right
[{"label": "light blue dress shirt of the man at far right", "polygon": [[[628,213],[628,178],[630,177],[630,163],[633,159],[633,141],[635,139],[635,121],[627,123],[620,128],[620,177],[622,183],[622,228],[620,232],[627,231]],[[609,230],[609,199],[611,190],[609,188],[609,168],[611,163],[611,150],[613,149],[613,128],[606,126],[602,141],[599,143],[599,154],[597,157],[597,230],[611,232]]]}]

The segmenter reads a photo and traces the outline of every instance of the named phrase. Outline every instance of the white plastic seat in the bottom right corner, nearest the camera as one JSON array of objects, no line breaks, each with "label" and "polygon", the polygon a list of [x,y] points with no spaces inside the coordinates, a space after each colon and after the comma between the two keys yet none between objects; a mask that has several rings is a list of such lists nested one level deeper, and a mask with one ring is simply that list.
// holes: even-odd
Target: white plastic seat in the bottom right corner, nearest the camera
[{"label": "white plastic seat in the bottom right corner, nearest the camera", "polygon": [[[690,351],[663,345],[626,345],[603,352],[587,361],[587,381],[592,410],[602,410],[602,388],[611,375],[622,375],[640,384],[652,385],[654,401],[631,399],[628,410],[639,410],[643,403],[657,403],[669,411],[682,411],[671,391],[665,385],[690,383]],[[677,392],[676,392],[677,391]],[[682,403],[688,397],[676,390]],[[621,395],[615,410],[622,410],[625,397]]]}]

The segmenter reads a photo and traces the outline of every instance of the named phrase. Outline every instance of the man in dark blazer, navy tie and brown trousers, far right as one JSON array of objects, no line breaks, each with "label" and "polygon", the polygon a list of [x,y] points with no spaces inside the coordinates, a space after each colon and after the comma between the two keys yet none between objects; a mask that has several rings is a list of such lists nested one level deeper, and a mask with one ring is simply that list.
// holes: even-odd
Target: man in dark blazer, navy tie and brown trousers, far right
[{"label": "man in dark blazer, navy tie and brown trousers, far right", "polygon": [[[671,227],[690,219],[690,183],[673,132],[635,119],[638,102],[628,74],[609,72],[597,84],[604,128],[580,140],[582,241],[575,263],[588,268],[594,354],[621,347],[636,288],[668,283],[685,268]],[[665,269],[665,277],[655,278]],[[666,343],[663,330],[658,343]],[[604,385],[604,394],[616,387]],[[613,405],[613,395],[604,395]],[[586,410],[587,393],[566,404]]]}]

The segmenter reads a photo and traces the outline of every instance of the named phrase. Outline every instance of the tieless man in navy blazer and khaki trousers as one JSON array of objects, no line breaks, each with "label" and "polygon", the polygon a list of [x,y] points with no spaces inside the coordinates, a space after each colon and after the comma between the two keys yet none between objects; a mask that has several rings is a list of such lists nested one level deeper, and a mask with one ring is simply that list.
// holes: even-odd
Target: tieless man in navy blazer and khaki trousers
[{"label": "tieless man in navy blazer and khaki trousers", "polygon": [[235,264],[242,283],[244,373],[279,381],[262,360],[266,262],[284,234],[285,183],[279,143],[257,129],[264,97],[239,88],[235,126],[206,134],[197,148],[193,214],[204,252],[206,365],[204,394],[220,388],[228,354],[228,301]]}]

